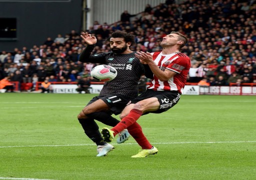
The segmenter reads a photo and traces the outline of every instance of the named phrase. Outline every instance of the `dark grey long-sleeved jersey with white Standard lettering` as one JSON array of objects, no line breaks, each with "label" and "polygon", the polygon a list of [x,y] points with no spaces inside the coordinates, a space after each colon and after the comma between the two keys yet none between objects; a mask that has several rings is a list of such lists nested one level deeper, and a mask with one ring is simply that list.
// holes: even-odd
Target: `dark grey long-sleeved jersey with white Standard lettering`
[{"label": "dark grey long-sleeved jersey with white Standard lettering", "polygon": [[99,95],[109,95],[112,93],[122,94],[134,98],[138,94],[138,80],[144,73],[143,65],[134,55],[116,54],[114,52],[103,52],[89,55],[94,46],[87,45],[79,57],[81,62],[102,63],[113,66],[117,70],[117,76],[105,82]]}]

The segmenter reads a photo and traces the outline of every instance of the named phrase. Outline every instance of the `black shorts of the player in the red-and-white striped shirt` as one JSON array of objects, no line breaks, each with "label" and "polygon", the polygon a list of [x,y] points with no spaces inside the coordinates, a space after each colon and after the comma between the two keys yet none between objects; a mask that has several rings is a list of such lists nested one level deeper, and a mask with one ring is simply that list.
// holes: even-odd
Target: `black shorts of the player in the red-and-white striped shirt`
[{"label": "black shorts of the player in the red-and-white striped shirt", "polygon": [[173,107],[179,100],[180,94],[178,91],[157,91],[147,89],[146,91],[142,92],[139,96],[132,99],[130,103],[136,103],[138,101],[144,100],[146,98],[156,97],[160,103],[160,108],[155,111],[146,112],[147,113],[161,113],[164,112],[171,107]]}]

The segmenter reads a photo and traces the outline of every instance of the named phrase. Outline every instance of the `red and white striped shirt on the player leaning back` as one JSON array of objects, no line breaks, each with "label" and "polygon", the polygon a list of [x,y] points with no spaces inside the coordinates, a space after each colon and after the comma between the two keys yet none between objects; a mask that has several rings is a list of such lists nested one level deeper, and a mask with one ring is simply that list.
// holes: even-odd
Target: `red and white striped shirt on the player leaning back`
[{"label": "red and white striped shirt on the player leaning back", "polygon": [[148,89],[152,90],[177,90],[182,93],[185,86],[187,73],[190,68],[190,58],[181,53],[162,54],[161,52],[152,52],[154,63],[162,70],[172,70],[176,74],[166,81],[160,81],[155,75],[151,80]]}]

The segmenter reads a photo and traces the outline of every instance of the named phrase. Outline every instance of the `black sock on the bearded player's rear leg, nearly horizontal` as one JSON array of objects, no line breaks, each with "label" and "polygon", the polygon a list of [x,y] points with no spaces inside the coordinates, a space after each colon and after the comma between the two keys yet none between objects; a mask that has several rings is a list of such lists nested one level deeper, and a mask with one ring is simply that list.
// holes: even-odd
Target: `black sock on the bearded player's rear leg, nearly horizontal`
[{"label": "black sock on the bearded player's rear leg, nearly horizontal", "polygon": [[106,125],[109,126],[115,126],[119,120],[117,120],[116,118],[112,117],[111,114],[107,113],[107,112],[93,112],[90,114],[86,114],[88,117],[96,119]]}]

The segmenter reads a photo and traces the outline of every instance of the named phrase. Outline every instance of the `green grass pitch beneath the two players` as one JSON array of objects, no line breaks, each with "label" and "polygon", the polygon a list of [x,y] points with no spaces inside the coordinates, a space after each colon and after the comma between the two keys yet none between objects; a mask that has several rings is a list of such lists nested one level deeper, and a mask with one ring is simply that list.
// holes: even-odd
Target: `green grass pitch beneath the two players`
[{"label": "green grass pitch beneath the two players", "polygon": [[93,95],[0,93],[0,179],[256,178],[256,96],[182,95],[141,116],[159,152],[131,158],[132,137],[96,157],[76,119]]}]

